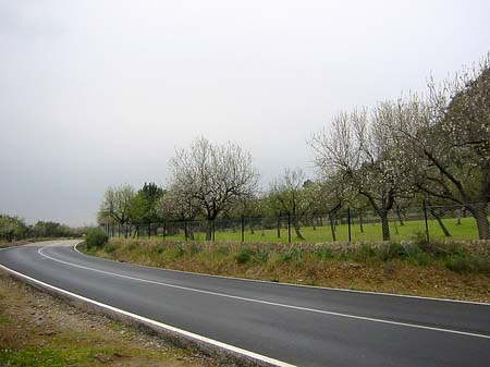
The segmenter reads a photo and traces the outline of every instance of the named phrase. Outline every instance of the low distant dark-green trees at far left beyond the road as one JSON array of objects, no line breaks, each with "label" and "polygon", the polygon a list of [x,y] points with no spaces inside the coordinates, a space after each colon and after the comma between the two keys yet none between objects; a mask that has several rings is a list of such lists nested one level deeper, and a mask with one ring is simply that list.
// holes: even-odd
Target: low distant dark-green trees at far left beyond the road
[{"label": "low distant dark-green trees at far left beyond the road", "polygon": [[28,225],[22,218],[0,215],[0,242],[24,238],[73,237],[86,233],[87,228],[71,228],[51,221]]}]

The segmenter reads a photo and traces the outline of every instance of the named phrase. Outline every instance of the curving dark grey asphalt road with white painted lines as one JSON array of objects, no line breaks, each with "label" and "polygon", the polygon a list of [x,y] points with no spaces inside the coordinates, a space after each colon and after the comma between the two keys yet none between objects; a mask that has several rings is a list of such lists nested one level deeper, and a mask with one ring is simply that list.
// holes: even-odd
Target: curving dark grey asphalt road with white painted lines
[{"label": "curving dark grey asphalt road with white painted lines", "polygon": [[0,265],[287,364],[490,366],[490,305],[158,270],[69,244],[0,250]]}]

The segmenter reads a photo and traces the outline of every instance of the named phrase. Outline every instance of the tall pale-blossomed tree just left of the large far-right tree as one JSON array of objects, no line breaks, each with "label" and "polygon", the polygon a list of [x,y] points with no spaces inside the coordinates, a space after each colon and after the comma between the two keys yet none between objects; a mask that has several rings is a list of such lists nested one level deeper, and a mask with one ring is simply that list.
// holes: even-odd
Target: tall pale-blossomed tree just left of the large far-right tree
[{"label": "tall pale-blossomed tree just left of the large far-right tree", "polygon": [[384,121],[399,119],[391,103],[379,103],[370,113],[367,109],[341,112],[330,130],[314,134],[309,144],[315,162],[327,176],[347,182],[365,196],[381,219],[383,240],[390,240],[388,213],[395,198],[407,191],[406,168]]}]

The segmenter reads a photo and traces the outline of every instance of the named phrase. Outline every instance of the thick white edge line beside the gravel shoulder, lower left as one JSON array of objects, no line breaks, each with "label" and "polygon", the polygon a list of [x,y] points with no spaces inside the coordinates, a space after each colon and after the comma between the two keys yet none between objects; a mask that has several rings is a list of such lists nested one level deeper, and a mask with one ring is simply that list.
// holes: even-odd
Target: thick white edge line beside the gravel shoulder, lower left
[{"label": "thick white edge line beside the gravel shoulder, lower left", "polygon": [[172,326],[167,325],[167,323],[162,323],[162,322],[159,322],[159,321],[156,321],[156,320],[148,319],[148,318],[146,318],[144,316],[139,316],[139,315],[136,315],[136,314],[133,314],[133,313],[130,313],[130,311],[126,311],[126,310],[123,310],[123,309],[120,309],[120,308],[117,308],[117,307],[113,307],[113,306],[106,305],[103,303],[97,302],[97,301],[91,299],[91,298],[87,298],[87,297],[82,296],[79,294],[76,294],[76,293],[73,293],[73,292],[69,292],[69,291],[62,290],[60,288],[57,288],[54,285],[41,282],[41,281],[39,281],[37,279],[30,278],[30,277],[28,277],[26,274],[23,274],[23,273],[19,272],[19,271],[12,270],[12,269],[3,266],[3,265],[0,265],[0,268],[7,270],[7,271],[9,271],[9,272],[11,272],[11,273],[13,273],[13,274],[15,274],[17,277],[27,279],[27,280],[29,280],[29,281],[32,281],[34,283],[37,283],[39,285],[42,285],[42,286],[48,288],[50,290],[53,290],[56,292],[60,292],[60,293],[66,294],[66,295],[71,296],[71,297],[84,301],[86,303],[96,305],[96,306],[101,307],[101,308],[109,309],[111,311],[114,311],[114,313],[118,313],[118,314],[121,314],[121,315],[124,315],[124,316],[128,316],[128,317],[134,318],[136,320],[154,325],[156,327],[169,330],[171,332],[175,332],[175,333],[182,334],[184,337],[197,340],[199,342],[211,344],[211,345],[218,346],[220,348],[228,350],[230,352],[237,353],[237,354],[241,354],[241,355],[244,355],[244,356],[257,359],[257,360],[261,360],[261,362],[265,362],[265,363],[278,366],[278,367],[296,367],[295,365],[291,365],[291,364],[287,364],[285,362],[273,359],[273,358],[270,358],[270,357],[267,357],[267,356],[264,356],[264,355],[250,352],[250,351],[246,351],[246,350],[240,348],[237,346],[233,346],[233,345],[230,345],[230,344],[226,344],[226,343],[222,343],[222,342],[213,340],[213,339],[209,339],[209,338],[206,338],[206,337],[203,337],[203,335],[199,335],[199,334],[186,331],[186,330],[182,330],[182,329],[172,327]]}]

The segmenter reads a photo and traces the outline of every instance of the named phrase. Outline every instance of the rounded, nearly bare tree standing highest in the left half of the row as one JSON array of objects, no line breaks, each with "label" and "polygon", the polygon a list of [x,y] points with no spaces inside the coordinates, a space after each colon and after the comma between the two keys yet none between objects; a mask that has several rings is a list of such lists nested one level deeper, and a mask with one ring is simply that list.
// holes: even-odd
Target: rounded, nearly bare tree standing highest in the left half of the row
[{"label": "rounded, nearly bare tree standing highest in the left half of the row", "polygon": [[[170,167],[171,191],[196,203],[208,221],[229,210],[236,200],[250,196],[257,186],[258,173],[250,154],[233,143],[213,145],[198,138],[188,149],[177,150]],[[206,240],[211,240],[211,225]]]}]

